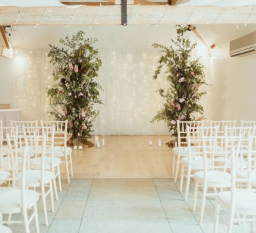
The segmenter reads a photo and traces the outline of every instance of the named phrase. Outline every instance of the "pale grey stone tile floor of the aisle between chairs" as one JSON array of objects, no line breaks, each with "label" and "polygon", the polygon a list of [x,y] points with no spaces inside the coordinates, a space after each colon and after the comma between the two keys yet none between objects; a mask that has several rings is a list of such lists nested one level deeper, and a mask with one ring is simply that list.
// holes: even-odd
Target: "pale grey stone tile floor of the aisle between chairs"
[{"label": "pale grey stone tile floor of the aisle between chairs", "polygon": [[[173,179],[72,179],[62,180],[63,191],[54,201],[55,212],[48,212],[44,225],[41,200],[38,202],[40,232],[45,233],[208,233],[213,232],[214,200],[207,199],[203,227],[198,225],[201,200],[192,212],[193,182],[188,201]],[[50,201],[47,201],[50,209]],[[224,213],[225,214],[225,213]],[[6,218],[6,216],[4,216]],[[21,214],[12,219],[21,219]],[[35,232],[34,222],[31,232]],[[13,233],[24,232],[21,225],[10,225]],[[248,224],[234,225],[233,232],[249,232]],[[219,231],[226,232],[224,222]]]}]

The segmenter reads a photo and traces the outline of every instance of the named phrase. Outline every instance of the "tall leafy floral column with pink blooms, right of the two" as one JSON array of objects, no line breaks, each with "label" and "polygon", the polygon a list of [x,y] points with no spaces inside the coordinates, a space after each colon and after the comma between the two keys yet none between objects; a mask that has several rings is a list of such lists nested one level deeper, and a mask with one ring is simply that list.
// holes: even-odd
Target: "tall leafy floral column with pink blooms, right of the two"
[{"label": "tall leafy floral column with pink blooms, right of the two", "polygon": [[[196,48],[196,43],[191,44],[185,35],[187,27],[176,25],[177,37],[171,41],[178,47],[166,47],[160,44],[153,44],[154,48],[160,48],[163,55],[158,60],[158,67],[153,79],[157,79],[163,66],[167,67],[167,81],[169,87],[166,91],[159,89],[157,92],[165,98],[164,108],[157,111],[151,122],[164,120],[167,122],[169,131],[173,130],[173,136],[177,136],[177,120],[195,120],[193,113],[203,114],[203,107],[198,104],[206,92],[199,92],[201,85],[209,85],[205,82],[204,66],[199,59],[190,61],[190,53]],[[203,119],[199,117],[198,120]]]}]

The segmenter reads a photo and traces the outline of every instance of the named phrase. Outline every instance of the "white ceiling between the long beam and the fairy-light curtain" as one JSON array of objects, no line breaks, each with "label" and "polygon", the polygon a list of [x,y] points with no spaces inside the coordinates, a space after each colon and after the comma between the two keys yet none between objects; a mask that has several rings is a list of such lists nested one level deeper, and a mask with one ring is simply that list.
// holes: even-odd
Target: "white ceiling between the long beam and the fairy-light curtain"
[{"label": "white ceiling between the long beam and the fairy-light curtain", "polygon": [[[47,49],[48,44],[58,45],[60,37],[66,34],[75,34],[83,30],[87,37],[97,38],[99,42],[96,47],[101,49],[149,49],[152,43],[170,45],[170,38],[175,38],[175,25],[128,25],[128,26],[39,26],[34,29],[32,26],[16,27],[16,32],[11,32],[11,44],[14,49]],[[197,31],[206,41],[208,46],[215,44],[223,45],[230,40],[256,31],[256,25],[198,25]],[[187,33],[191,41],[198,42],[198,49],[204,50],[204,45],[197,39],[193,32]],[[0,40],[0,43],[2,41]],[[2,45],[3,42],[0,44]]]}]

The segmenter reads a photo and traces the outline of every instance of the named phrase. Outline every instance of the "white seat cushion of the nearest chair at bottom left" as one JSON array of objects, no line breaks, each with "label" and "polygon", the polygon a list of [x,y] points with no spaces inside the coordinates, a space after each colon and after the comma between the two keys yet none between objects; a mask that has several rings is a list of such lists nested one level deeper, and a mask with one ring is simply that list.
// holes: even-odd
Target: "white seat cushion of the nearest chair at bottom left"
[{"label": "white seat cushion of the nearest chair at bottom left", "polygon": [[[25,190],[25,207],[30,209],[39,199],[39,193],[34,190]],[[0,191],[0,212],[5,212],[4,209],[19,209],[21,208],[21,190],[10,189]]]}]

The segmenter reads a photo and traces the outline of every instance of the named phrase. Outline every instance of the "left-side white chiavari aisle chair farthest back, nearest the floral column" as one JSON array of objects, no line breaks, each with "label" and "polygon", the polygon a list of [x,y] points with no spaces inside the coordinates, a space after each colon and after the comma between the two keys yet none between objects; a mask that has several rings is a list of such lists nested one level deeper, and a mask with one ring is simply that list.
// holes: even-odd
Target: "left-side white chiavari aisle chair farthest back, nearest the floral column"
[{"label": "left-side white chiavari aisle chair farthest back, nearest the floral column", "polygon": [[[69,167],[70,165],[70,173],[73,176],[73,166],[72,166],[72,148],[67,146],[67,129],[68,129],[68,121],[43,121],[41,120],[41,126],[55,126],[55,134],[54,134],[54,157],[64,158],[62,163],[66,165],[66,173],[68,183],[70,183],[69,177]],[[64,146],[62,146],[64,144]],[[58,145],[58,146],[57,146]],[[60,145],[60,146],[59,146]],[[49,149],[48,149],[49,150]]]}]

